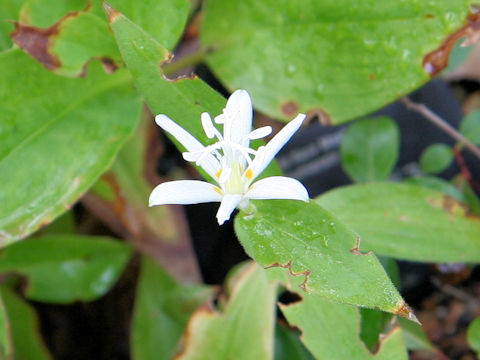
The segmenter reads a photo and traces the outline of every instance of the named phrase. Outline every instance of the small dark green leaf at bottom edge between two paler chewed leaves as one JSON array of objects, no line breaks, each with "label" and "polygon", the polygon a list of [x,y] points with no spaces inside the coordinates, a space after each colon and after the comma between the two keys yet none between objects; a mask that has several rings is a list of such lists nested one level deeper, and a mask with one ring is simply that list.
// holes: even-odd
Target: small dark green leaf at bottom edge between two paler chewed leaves
[{"label": "small dark green leaf at bottom edge between two paler chewed leaves", "polygon": [[300,341],[297,332],[282,325],[275,327],[275,360],[313,360],[312,355]]}]

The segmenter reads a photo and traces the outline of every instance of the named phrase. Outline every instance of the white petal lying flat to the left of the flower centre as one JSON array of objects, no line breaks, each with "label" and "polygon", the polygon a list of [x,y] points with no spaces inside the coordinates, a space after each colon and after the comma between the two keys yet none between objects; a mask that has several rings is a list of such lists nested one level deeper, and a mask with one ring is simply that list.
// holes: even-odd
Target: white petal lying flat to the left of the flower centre
[{"label": "white petal lying flat to the left of the flower centre", "polygon": [[205,181],[178,180],[169,181],[153,189],[148,201],[149,206],[166,204],[198,204],[220,202],[220,189]]}]

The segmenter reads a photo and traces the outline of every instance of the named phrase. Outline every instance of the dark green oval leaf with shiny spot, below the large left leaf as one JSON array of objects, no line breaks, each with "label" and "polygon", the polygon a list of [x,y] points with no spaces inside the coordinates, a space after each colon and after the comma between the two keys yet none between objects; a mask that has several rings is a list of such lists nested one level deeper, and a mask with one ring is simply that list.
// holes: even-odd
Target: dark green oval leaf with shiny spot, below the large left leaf
[{"label": "dark green oval leaf with shiny spot, below the large left leaf", "polygon": [[108,238],[51,235],[0,250],[0,273],[25,276],[32,300],[91,301],[114,285],[130,254],[128,246]]}]

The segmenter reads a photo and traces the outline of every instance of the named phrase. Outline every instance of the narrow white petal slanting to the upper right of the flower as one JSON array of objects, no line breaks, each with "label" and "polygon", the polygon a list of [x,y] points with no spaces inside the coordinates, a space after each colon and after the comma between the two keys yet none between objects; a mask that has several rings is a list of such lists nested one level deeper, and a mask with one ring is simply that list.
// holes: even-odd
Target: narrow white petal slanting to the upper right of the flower
[{"label": "narrow white petal slanting to the upper right of the flower", "polygon": [[253,179],[265,170],[280,149],[290,140],[300,126],[302,126],[305,117],[305,114],[298,114],[297,117],[285,125],[267,145],[258,148],[258,153],[250,166],[253,172]]}]

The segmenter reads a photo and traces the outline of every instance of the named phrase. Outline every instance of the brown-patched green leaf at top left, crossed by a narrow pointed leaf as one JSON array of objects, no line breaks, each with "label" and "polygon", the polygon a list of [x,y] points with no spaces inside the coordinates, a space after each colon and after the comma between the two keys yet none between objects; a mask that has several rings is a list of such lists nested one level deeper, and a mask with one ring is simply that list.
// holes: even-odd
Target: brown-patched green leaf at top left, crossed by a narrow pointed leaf
[{"label": "brown-patched green leaf at top left, crossed by a narrow pointed leaf", "polygon": [[[178,41],[189,11],[188,0],[112,0],[111,3],[167,48]],[[109,67],[121,63],[99,0],[88,3],[29,0],[22,8],[21,23],[12,37],[48,69],[62,75],[82,74],[92,58],[101,59]]]}]

